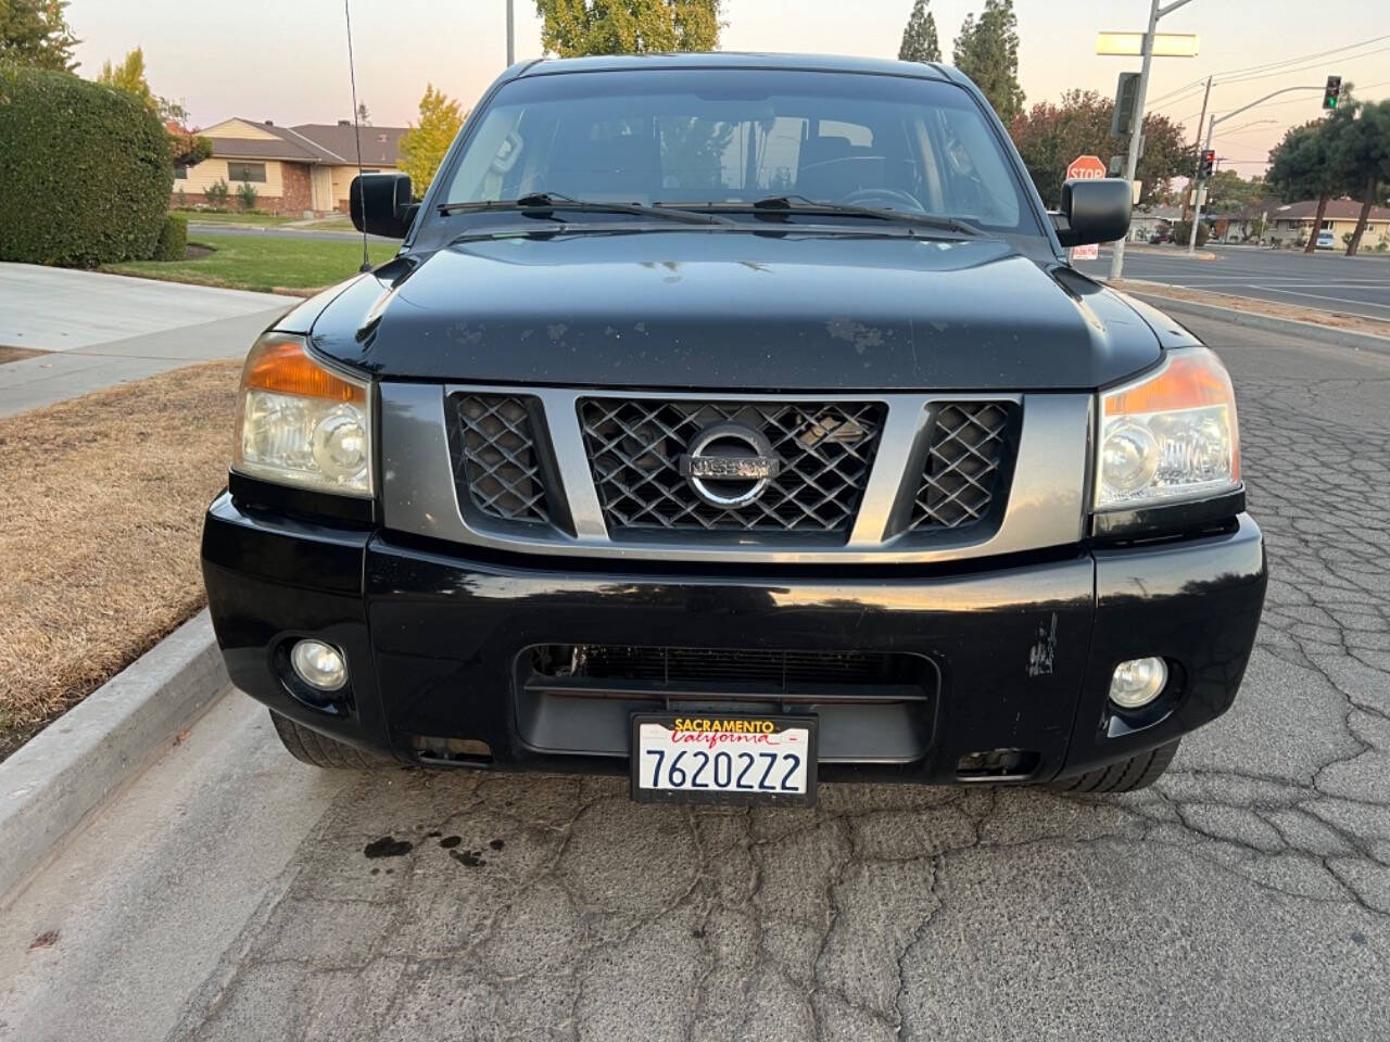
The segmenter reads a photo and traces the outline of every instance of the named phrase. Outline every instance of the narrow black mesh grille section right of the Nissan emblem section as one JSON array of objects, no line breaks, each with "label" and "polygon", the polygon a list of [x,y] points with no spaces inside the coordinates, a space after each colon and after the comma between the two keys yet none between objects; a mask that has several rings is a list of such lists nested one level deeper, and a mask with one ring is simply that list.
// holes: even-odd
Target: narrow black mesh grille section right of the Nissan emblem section
[{"label": "narrow black mesh grille section right of the Nissan emblem section", "polygon": [[963,528],[990,513],[1008,460],[1013,406],[949,402],[937,407],[910,529]]}]

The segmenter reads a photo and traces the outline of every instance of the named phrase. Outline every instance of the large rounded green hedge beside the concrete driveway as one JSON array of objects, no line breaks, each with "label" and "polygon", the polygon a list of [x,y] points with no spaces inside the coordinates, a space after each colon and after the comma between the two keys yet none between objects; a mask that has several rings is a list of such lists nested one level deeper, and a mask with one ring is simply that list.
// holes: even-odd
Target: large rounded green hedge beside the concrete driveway
[{"label": "large rounded green hedge beside the concrete driveway", "polygon": [[129,94],[0,63],[0,260],[95,267],[154,254],[167,132]]}]

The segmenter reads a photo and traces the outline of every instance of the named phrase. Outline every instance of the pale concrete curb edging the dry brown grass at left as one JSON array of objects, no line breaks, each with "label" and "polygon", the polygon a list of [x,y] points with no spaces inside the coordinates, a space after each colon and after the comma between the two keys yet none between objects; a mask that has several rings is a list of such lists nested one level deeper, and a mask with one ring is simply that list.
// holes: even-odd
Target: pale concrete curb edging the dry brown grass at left
[{"label": "pale concrete curb edging the dry brown grass at left", "polygon": [[0,903],[227,684],[204,609],[0,763]]}]

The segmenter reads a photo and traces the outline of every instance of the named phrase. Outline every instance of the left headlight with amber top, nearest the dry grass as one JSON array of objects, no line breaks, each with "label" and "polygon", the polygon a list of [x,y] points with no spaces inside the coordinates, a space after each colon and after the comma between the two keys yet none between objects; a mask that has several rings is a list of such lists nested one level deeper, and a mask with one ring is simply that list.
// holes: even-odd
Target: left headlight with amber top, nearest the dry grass
[{"label": "left headlight with amber top, nearest the dry grass", "polygon": [[320,492],[370,496],[368,385],[314,361],[302,338],[265,333],[242,370],[232,468]]}]

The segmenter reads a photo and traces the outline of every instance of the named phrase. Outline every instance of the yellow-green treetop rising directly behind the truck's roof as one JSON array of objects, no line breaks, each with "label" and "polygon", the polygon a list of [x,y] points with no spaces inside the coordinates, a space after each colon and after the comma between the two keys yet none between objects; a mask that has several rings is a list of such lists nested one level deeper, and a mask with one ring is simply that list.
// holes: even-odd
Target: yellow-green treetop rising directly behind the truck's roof
[{"label": "yellow-green treetop rising directly behind the truck's roof", "polygon": [[541,46],[584,54],[714,50],[723,0],[535,0]]}]

